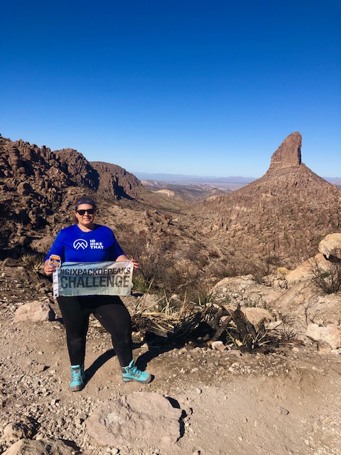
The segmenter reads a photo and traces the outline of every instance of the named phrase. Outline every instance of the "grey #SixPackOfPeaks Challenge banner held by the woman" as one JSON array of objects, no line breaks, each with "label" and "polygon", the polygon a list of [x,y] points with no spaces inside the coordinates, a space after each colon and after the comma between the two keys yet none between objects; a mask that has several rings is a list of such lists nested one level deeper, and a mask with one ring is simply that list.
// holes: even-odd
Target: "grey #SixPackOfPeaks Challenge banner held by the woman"
[{"label": "grey #SixPackOfPeaks Challenge banner held by the woman", "polygon": [[53,272],[53,296],[129,296],[134,264],[119,262],[65,262]]}]

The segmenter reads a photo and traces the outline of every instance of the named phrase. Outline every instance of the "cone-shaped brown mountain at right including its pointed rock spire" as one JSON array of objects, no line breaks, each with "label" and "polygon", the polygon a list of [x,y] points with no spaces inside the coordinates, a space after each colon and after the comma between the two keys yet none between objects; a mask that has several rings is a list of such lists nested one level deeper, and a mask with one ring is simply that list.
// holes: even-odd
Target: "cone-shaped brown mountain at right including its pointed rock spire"
[{"label": "cone-shaped brown mountain at right including its pointed rock spire", "polygon": [[325,235],[341,230],[341,193],[301,161],[302,137],[290,134],[256,181],[192,205],[200,235],[229,245],[238,261],[254,257],[296,266]]}]

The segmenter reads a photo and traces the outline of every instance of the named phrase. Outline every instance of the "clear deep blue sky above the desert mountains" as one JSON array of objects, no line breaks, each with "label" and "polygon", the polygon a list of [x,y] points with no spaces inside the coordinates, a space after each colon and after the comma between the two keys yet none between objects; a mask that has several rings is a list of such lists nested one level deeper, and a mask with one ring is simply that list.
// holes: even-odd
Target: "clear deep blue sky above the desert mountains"
[{"label": "clear deep blue sky above the desert mountains", "polygon": [[11,0],[0,133],[130,172],[341,176],[340,0]]}]

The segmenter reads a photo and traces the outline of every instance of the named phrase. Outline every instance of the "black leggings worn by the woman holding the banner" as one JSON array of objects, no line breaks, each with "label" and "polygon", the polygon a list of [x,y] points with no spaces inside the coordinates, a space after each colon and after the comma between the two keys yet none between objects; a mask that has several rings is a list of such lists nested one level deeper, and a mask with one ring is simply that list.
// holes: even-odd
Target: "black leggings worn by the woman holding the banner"
[{"label": "black leggings worn by the woman holding the banner", "polygon": [[112,345],[121,367],[129,365],[132,356],[131,319],[119,296],[58,297],[66,329],[71,365],[82,365],[89,317],[93,314],[112,336]]}]

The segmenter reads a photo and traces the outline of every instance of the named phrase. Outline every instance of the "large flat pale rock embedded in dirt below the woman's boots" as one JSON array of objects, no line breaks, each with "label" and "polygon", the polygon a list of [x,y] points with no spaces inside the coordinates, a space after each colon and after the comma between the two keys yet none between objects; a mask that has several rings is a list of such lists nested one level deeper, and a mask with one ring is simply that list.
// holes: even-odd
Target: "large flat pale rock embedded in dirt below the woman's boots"
[{"label": "large flat pale rock embedded in dirt below the woman's boots", "polygon": [[182,411],[158,393],[136,392],[103,402],[87,432],[103,446],[171,446],[180,437]]}]

